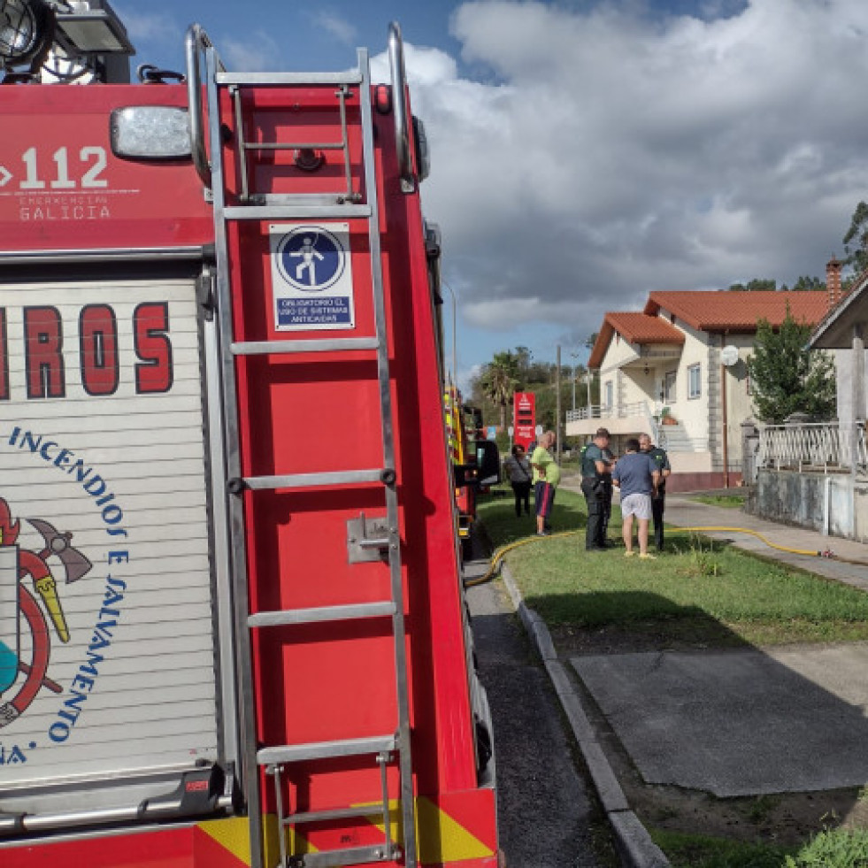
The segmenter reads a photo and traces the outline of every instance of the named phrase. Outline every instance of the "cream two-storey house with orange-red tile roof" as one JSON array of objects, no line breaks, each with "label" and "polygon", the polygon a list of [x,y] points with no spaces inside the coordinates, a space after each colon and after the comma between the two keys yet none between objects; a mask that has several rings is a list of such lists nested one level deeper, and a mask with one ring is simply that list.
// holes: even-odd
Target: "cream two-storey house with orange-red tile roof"
[{"label": "cream two-storey house with orange-red tile roof", "polygon": [[745,359],[757,322],[780,326],[788,309],[816,326],[828,306],[826,292],[661,291],[641,313],[607,313],[588,360],[600,406],[567,413],[566,434],[603,425],[618,449],[645,432],[669,450],[671,490],[735,485],[741,423],[753,416]]}]

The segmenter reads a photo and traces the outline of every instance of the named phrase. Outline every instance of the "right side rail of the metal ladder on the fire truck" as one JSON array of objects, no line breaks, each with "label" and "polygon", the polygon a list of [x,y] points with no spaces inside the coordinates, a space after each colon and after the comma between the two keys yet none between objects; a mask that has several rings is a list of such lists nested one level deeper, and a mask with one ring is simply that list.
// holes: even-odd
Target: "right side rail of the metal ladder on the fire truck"
[{"label": "right side rail of the metal ladder on the fire truck", "polygon": [[[380,245],[380,205],[377,185],[376,157],[373,148],[373,108],[371,103],[371,65],[368,52],[358,50],[358,67],[363,81],[360,93],[360,110],[363,130],[363,162],[365,165],[365,192],[372,215],[368,222],[368,242],[373,280],[374,319],[380,346],[377,350],[377,371],[380,387],[380,407],[383,422],[383,465],[395,469],[395,436],[391,397],[391,378],[388,370],[388,326],[383,288],[382,257]],[[404,860],[407,868],[416,868],[416,823],[413,801],[413,774],[410,730],[410,692],[407,678],[406,628],[403,619],[403,581],[401,569],[401,540],[398,525],[398,495],[396,482],[386,485],[386,512],[388,518],[389,572],[392,599],[396,612],[392,617],[395,639],[396,704],[398,715],[398,765],[401,779],[401,812],[403,819]]]}]

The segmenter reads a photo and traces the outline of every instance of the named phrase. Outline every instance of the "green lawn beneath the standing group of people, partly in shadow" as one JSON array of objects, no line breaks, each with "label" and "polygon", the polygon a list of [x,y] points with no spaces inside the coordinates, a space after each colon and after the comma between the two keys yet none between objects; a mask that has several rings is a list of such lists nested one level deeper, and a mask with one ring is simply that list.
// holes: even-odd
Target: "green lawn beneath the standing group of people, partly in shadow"
[{"label": "green lawn beneath the standing group of people, partly in shadow", "polygon": [[[700,645],[868,639],[868,594],[699,534],[672,528],[653,561],[626,560],[621,548],[587,552],[584,498],[564,489],[553,530],[577,534],[535,537],[533,518],[516,518],[511,496],[480,500],[480,518],[495,548],[527,539],[505,560],[556,633],[614,627]],[[609,535],[620,536],[617,506]]]}]

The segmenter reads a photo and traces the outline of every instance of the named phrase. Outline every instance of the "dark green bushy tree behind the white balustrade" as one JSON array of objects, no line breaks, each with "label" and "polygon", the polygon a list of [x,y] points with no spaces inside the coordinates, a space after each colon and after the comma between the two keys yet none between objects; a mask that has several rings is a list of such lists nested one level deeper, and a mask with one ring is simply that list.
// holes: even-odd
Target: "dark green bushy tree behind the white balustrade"
[{"label": "dark green bushy tree behind the white balustrade", "polygon": [[757,323],[754,353],[748,359],[754,406],[761,422],[780,425],[791,413],[825,421],[835,413],[833,360],[808,350],[811,328],[787,316],[775,330],[767,319]]}]

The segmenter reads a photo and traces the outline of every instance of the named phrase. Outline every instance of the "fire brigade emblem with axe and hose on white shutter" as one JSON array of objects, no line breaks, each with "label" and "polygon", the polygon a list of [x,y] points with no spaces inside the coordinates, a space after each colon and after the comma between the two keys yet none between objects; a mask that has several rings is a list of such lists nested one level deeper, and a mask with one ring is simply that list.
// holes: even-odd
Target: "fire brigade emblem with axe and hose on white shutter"
[{"label": "fire brigade emblem with axe and hose on white shutter", "polygon": [[[61,692],[48,677],[51,632],[68,642],[69,629],[51,565],[61,566],[67,584],[92,568],[71,545],[72,534],[62,534],[40,518],[27,521],[42,536],[39,551],[18,544],[20,522],[12,520],[9,504],[0,497],[0,727],[27,711],[42,687]],[[22,624],[30,631],[30,641],[22,641]]]}]

